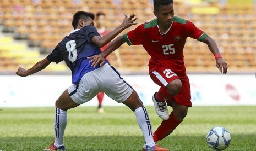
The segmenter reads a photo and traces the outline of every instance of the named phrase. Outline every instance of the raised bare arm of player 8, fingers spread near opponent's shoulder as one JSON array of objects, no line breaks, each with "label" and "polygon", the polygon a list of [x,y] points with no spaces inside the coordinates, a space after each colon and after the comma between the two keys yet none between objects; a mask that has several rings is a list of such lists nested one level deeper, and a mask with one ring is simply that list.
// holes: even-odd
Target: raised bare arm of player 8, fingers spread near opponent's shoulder
[{"label": "raised bare arm of player 8, fingers spread near opponent's shoulder", "polygon": [[123,22],[120,26],[115,28],[112,32],[106,34],[103,37],[100,36],[94,36],[91,38],[92,42],[95,43],[98,47],[103,47],[107,43],[111,42],[119,33],[121,33],[126,28],[129,28],[132,25],[138,24],[136,21],[138,18],[135,18],[135,14],[132,14],[127,18],[127,15],[125,15]]}]

